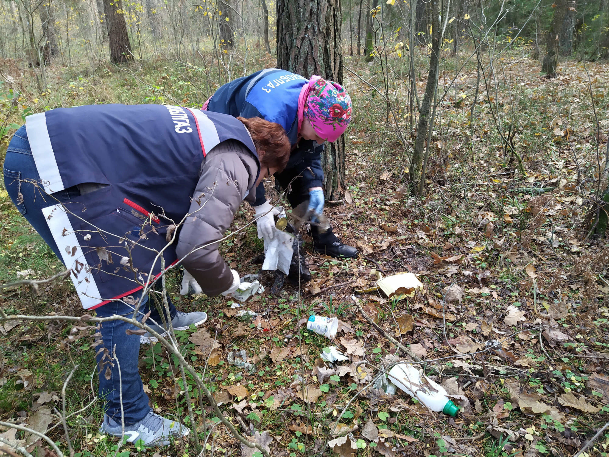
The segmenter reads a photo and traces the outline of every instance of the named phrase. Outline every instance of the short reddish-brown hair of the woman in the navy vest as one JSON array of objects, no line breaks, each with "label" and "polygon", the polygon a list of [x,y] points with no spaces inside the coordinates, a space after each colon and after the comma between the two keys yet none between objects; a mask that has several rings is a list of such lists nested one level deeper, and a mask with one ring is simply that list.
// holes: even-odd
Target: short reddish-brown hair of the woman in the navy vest
[{"label": "short reddish-brown hair of the woman in the navy vest", "polygon": [[256,151],[264,151],[261,165],[283,171],[290,159],[290,140],[286,130],[275,122],[265,121],[262,118],[237,118],[243,122],[252,135]]}]

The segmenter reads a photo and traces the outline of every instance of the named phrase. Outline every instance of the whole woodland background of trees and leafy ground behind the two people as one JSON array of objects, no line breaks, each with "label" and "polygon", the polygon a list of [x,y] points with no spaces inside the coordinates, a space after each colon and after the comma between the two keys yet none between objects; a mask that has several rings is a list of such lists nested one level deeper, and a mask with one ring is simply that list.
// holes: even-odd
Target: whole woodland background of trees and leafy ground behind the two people
[{"label": "whole woodland background of trees and leafy ground behind the two people", "polygon": [[[197,433],[122,445],[97,431],[96,318],[0,189],[0,449],[606,456],[608,19],[605,0],[2,0],[0,161],[43,110],[200,107],[261,68],[320,74],[353,99],[326,147],[326,211],[361,256],[314,255],[304,235],[311,282],[245,303],[255,316],[181,297],[167,274],[178,308],[209,322],[143,346],[140,369],[155,411]],[[241,274],[259,268],[252,218],[244,205],[222,244]],[[422,292],[373,289],[404,271]],[[309,314],[339,317],[336,341]],[[347,361],[320,359],[333,344]],[[386,395],[396,360],[418,361],[459,416]]]}]

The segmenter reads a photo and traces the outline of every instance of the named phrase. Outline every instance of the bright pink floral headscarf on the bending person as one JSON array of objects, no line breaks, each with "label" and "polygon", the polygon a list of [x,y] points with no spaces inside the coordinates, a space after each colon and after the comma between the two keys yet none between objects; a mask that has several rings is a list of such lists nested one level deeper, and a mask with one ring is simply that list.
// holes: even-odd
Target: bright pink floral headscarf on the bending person
[{"label": "bright pink floral headscarf on the bending person", "polygon": [[317,135],[333,143],[351,121],[351,97],[339,83],[312,76],[298,97],[299,132],[305,117]]}]

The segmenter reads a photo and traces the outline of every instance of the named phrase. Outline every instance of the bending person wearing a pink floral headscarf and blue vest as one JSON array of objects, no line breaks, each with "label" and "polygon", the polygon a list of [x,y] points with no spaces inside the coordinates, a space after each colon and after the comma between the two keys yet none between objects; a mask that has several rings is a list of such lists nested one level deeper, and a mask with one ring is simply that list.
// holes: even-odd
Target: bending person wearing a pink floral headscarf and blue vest
[{"label": "bending person wearing a pink floral headscarf and blue vest", "polygon": [[[292,208],[309,200],[308,209],[321,214],[324,206],[322,153],[325,141],[333,143],[351,121],[351,98],[336,82],[319,76],[306,79],[286,70],[270,68],[235,79],[220,87],[203,104],[203,110],[232,116],[258,116],[286,129],[292,144],[290,160],[275,182],[287,192]],[[258,238],[273,238],[274,212],[259,186],[254,202]],[[312,225],[315,252],[333,257],[357,257],[332,228],[321,233]]]}]

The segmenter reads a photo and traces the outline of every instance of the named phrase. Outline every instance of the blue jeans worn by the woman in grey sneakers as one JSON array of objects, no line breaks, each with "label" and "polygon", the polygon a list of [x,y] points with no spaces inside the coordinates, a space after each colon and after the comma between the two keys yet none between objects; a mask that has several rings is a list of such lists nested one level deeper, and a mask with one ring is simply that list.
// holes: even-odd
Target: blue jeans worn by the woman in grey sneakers
[{"label": "blue jeans worn by the woman in grey sneakers", "polygon": [[[80,191],[76,187],[69,188],[52,194],[54,198],[44,193],[44,188],[40,184],[40,175],[38,175],[36,164],[32,157],[32,149],[30,149],[30,143],[27,140],[25,126],[17,130],[9,143],[4,160],[4,185],[10,199],[19,212],[32,224],[32,227],[35,228],[46,244],[55,252],[55,255],[62,260],[62,256],[57,249],[57,244],[55,244],[51,230],[49,230],[41,210],[42,208],[57,204],[57,200],[62,203],[69,202],[72,198],[80,196]],[[142,292],[138,291],[133,294],[133,298],[137,300],[141,297],[141,294]],[[169,300],[169,296],[167,296],[167,300],[169,301],[170,319],[173,319],[177,311],[171,300]],[[148,313],[150,308],[153,308],[147,323],[150,323],[152,319],[158,324],[162,324],[163,319],[161,315],[156,306],[152,305],[150,301],[148,297],[144,297],[143,305],[139,308],[138,320],[141,321],[144,314]],[[133,308],[123,302],[110,302],[96,308],[96,313],[99,317],[109,317],[113,314],[131,317]],[[165,313],[163,314],[163,318],[165,318]],[[100,347],[104,347],[108,350],[110,356],[113,354],[113,350],[116,349],[118,363],[113,361],[114,366],[104,363],[105,360],[102,361],[103,353],[97,355],[99,396],[105,399],[104,409],[108,416],[120,422],[121,400],[119,385],[122,383],[122,407],[124,409],[125,424],[127,425],[144,419],[150,411],[148,397],[144,393],[144,386],[138,372],[139,336],[127,335],[125,331],[129,329],[138,330],[135,325],[123,321],[103,322],[100,333],[104,344],[93,349],[97,352]],[[102,364],[102,366],[99,366],[99,364]],[[119,364],[121,366],[120,379]],[[110,379],[106,379],[105,376],[108,366],[110,367]]]}]

